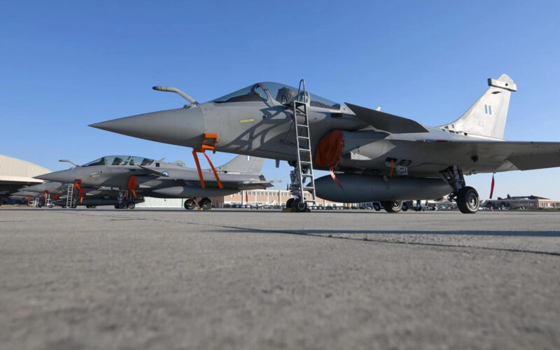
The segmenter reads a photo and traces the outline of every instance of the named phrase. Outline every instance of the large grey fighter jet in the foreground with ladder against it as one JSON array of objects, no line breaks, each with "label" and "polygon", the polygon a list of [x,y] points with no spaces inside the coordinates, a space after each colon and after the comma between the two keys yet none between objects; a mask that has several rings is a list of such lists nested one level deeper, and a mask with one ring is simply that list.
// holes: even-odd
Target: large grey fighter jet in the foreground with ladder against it
[{"label": "large grey fighter jet in the foreground with ladder against it", "polygon": [[[474,214],[479,195],[465,185],[465,175],[560,166],[558,142],[503,140],[517,85],[505,74],[488,79],[488,85],[463,116],[437,127],[344,106],[306,92],[301,82],[297,89],[256,83],[203,104],[175,87],[153,87],[177,92],[190,104],[90,126],[166,144],[211,145],[214,151],[272,158],[276,164],[287,160],[302,169],[297,174],[302,176],[306,168],[312,172],[311,165],[330,170],[330,176],[307,185],[327,200],[380,201],[386,211],[396,212],[402,200],[451,193],[461,212]],[[302,210],[303,202],[296,198],[289,206]]]}]

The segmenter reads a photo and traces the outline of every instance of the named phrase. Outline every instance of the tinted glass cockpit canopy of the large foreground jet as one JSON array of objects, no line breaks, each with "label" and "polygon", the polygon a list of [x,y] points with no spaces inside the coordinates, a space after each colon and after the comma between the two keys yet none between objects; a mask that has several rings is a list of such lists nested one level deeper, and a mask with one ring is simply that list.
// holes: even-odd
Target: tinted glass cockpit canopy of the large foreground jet
[{"label": "tinted glass cockpit canopy of the large foreground jet", "polygon": [[[340,109],[340,104],[332,102],[316,94],[306,92],[309,105],[323,109]],[[297,87],[284,85],[280,83],[256,83],[245,87],[231,94],[218,97],[212,100],[216,104],[232,103],[232,102],[265,102],[269,98],[274,99],[281,104],[288,104],[297,99]],[[303,92],[300,92],[300,101],[303,100]]]}]

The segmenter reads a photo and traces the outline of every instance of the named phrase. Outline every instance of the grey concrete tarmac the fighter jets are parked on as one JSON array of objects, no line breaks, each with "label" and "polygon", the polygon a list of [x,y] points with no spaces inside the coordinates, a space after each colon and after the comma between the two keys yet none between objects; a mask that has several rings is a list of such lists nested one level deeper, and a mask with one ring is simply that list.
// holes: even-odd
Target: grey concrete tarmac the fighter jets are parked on
[{"label": "grey concrete tarmac the fighter jets are parked on", "polygon": [[560,349],[560,212],[0,207],[0,349]]}]

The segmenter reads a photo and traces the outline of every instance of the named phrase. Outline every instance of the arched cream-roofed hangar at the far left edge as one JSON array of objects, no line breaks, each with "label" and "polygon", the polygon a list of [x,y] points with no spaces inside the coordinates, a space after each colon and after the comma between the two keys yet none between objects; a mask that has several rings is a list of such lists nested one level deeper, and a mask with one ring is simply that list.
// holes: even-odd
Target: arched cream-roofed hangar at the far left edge
[{"label": "arched cream-roofed hangar at the far left edge", "polygon": [[23,186],[42,183],[42,180],[33,179],[33,176],[49,172],[49,169],[26,160],[0,155],[0,202],[6,202],[10,193]]}]

